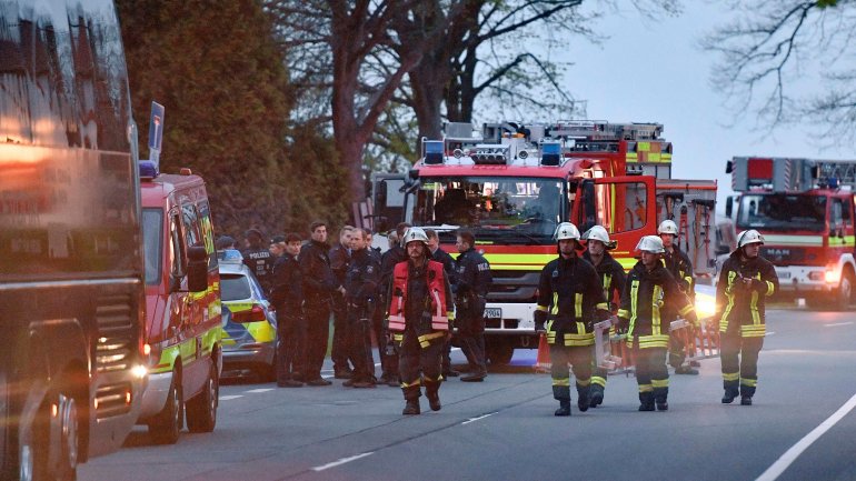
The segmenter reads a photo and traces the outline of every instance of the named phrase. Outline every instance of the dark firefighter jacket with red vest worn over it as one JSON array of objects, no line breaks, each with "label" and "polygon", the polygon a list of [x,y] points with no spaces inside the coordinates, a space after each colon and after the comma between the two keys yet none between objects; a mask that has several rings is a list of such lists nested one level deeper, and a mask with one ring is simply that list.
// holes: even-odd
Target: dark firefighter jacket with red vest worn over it
[{"label": "dark firefighter jacket with red vest worn over it", "polygon": [[390,331],[415,329],[419,342],[427,343],[449,330],[448,313],[454,305],[441,263],[431,260],[422,267],[415,267],[410,261],[397,263],[389,299]]}]

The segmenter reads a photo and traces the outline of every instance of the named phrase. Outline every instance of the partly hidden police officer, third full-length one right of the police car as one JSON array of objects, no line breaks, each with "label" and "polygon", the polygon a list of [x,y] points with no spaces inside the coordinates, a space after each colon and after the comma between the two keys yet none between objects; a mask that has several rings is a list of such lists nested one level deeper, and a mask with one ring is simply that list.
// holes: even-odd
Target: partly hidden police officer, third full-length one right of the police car
[{"label": "partly hidden police officer, third full-length one right of the police car", "polygon": [[[345,275],[348,272],[351,257],[351,226],[345,226],[339,231],[339,242],[330,249],[330,269],[339,283],[332,293],[332,372],[336,379],[350,379],[351,369],[348,365],[348,313],[345,301]],[[352,361],[352,359],[351,359]]]}]

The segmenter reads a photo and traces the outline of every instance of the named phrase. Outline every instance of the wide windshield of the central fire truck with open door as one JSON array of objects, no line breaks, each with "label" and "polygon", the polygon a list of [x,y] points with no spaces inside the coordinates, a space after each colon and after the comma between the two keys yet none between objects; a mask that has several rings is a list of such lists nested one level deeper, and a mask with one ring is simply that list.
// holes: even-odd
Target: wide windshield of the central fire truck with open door
[{"label": "wide windshield of the central fire truck with open door", "polygon": [[[550,244],[567,219],[561,179],[424,177],[414,210],[416,226],[468,228],[479,240]],[[451,229],[440,234],[448,241]],[[519,238],[519,239],[516,239]]]}]

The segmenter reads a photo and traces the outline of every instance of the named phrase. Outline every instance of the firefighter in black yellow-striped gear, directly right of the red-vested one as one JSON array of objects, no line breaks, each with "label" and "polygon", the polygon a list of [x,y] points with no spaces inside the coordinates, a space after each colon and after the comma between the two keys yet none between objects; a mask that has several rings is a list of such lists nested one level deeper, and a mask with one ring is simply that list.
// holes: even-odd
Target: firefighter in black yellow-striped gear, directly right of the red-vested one
[{"label": "firefighter in black yellow-striped gear, directly right of the red-vested one", "polygon": [[570,371],[577,385],[577,408],[588,410],[591,382],[594,323],[609,317],[608,304],[595,268],[577,255],[583,250],[579,230],[570,222],[556,228],[559,257],[541,270],[535,331],[547,333],[550,347],[553,397],[556,415],[570,415]]}]

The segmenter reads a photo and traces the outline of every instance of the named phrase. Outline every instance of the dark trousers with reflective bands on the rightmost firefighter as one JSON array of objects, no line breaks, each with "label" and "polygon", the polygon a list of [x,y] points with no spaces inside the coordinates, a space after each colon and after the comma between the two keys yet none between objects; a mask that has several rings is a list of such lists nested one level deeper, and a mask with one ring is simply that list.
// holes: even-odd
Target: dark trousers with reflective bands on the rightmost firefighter
[{"label": "dark trousers with reflective bands on the rightmost firefighter", "polygon": [[758,353],[764,338],[744,338],[739,332],[721,333],[719,357],[723,360],[723,388],[740,395],[755,395],[758,384]]}]

